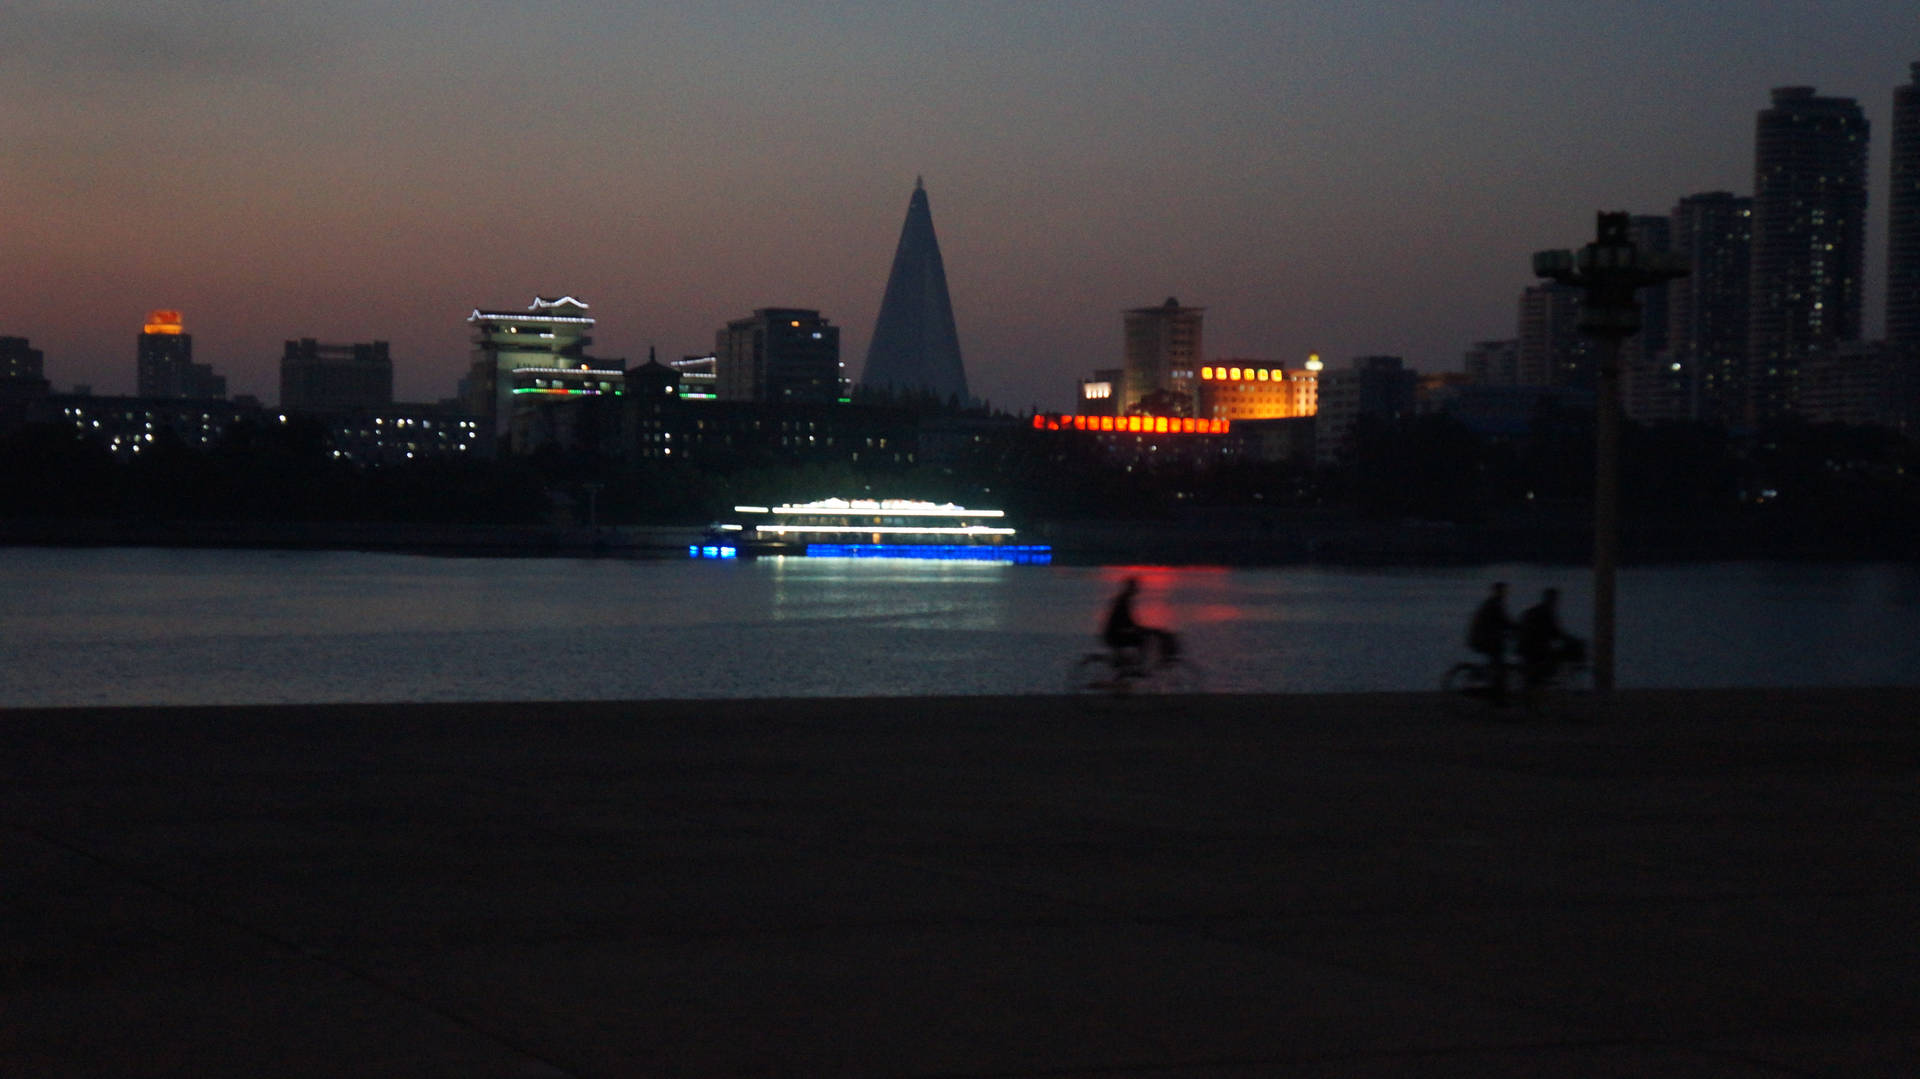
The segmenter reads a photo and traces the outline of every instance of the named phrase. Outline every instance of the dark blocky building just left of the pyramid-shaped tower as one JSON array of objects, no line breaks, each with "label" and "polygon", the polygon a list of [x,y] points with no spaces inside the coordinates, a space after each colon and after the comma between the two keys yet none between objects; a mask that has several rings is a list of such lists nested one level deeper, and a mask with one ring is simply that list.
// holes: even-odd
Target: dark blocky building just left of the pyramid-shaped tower
[{"label": "dark blocky building just left of the pyramid-shaped tower", "polygon": [[722,401],[839,401],[845,378],[839,326],[820,311],[760,307],[716,334],[714,374]]}]

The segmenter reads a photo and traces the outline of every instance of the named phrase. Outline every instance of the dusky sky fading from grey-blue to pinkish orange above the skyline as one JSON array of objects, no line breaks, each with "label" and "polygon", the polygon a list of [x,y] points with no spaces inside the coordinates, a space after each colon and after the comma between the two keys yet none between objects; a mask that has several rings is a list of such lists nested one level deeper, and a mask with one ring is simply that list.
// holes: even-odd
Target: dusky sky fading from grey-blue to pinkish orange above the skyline
[{"label": "dusky sky fading from grey-blue to pinkish orange above the skyline", "polygon": [[1914,60],[1912,0],[10,0],[0,334],[131,394],[179,307],[232,394],[315,336],[440,399],[472,307],[572,294],[634,363],[818,307],[858,376],[925,177],[995,405],[1068,407],[1169,296],[1210,357],[1457,369],[1597,209],[1751,194],[1755,113],[1812,84],[1874,125],[1878,336]]}]

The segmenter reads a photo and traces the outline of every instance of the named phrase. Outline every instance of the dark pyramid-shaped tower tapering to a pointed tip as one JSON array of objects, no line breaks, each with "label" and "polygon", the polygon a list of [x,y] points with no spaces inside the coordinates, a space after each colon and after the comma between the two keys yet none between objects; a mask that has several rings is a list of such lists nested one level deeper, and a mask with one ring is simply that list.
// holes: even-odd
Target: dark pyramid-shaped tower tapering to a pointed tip
[{"label": "dark pyramid-shaped tower tapering to a pointed tip", "polygon": [[906,225],[893,252],[893,273],[874,321],[860,386],[968,401],[960,334],[954,332],[954,307],[947,298],[947,267],[941,263],[941,242],[933,236],[927,188],[920,180],[914,180],[914,198],[906,202]]}]

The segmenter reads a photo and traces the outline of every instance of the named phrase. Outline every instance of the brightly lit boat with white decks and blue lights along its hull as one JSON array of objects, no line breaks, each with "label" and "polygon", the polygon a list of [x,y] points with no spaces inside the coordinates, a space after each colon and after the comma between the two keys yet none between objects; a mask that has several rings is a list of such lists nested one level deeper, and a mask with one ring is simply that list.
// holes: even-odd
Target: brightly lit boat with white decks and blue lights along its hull
[{"label": "brightly lit boat with white decks and blue lights along its hull", "polygon": [[1020,543],[1006,513],[912,499],[822,499],[735,505],[687,553],[695,559],[964,559],[1050,563],[1052,547]]}]

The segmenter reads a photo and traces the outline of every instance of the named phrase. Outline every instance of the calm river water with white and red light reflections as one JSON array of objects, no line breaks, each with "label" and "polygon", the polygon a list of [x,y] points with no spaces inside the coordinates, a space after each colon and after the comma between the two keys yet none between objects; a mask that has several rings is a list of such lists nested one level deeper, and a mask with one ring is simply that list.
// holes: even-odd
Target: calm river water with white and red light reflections
[{"label": "calm river water with white and red light reflections", "polygon": [[[1427,689],[1490,580],[1582,568],[1083,568],[44,551],[0,559],[0,707],[1052,693],[1121,578],[1219,691]],[[1620,574],[1622,685],[1920,682],[1920,568]]]}]

